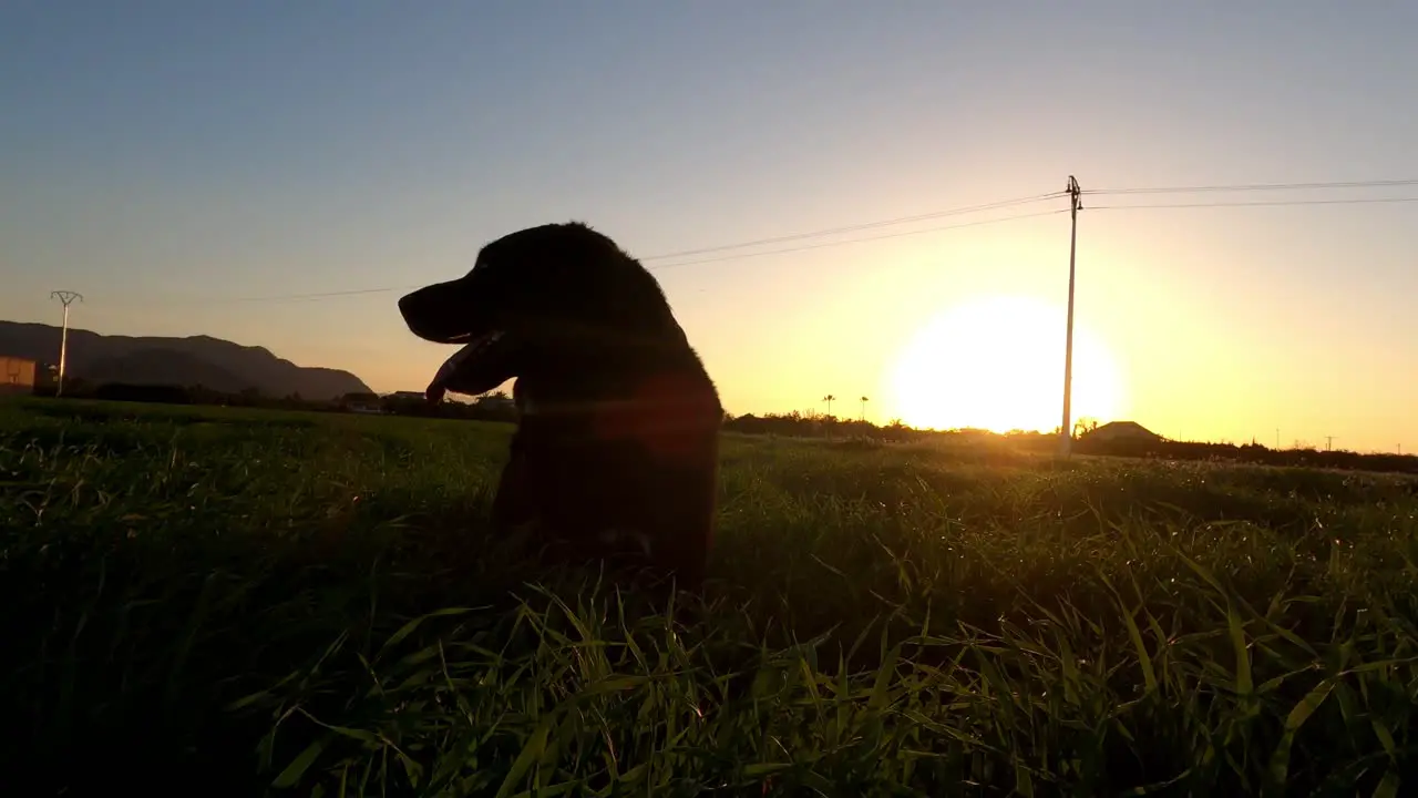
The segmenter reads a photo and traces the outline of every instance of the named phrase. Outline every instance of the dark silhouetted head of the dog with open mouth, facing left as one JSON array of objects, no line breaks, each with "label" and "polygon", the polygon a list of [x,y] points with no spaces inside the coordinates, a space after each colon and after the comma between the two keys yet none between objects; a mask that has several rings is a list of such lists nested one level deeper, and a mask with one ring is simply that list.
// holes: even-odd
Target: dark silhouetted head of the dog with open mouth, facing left
[{"label": "dark silhouetted head of the dog with open mouth, facing left", "polygon": [[468,274],[398,300],[408,329],[467,344],[448,369],[459,393],[482,393],[533,368],[539,354],[683,337],[659,284],[607,236],[543,224],[478,251]]}]

